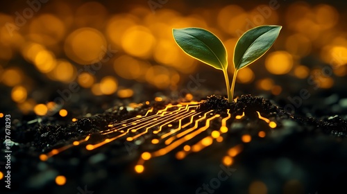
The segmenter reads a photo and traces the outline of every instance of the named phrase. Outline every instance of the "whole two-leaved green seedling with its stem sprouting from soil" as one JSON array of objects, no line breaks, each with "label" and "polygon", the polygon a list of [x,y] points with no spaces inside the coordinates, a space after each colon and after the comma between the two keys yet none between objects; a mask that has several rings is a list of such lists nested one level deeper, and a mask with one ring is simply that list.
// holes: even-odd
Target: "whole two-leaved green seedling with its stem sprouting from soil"
[{"label": "whole two-leaved green seedling with its stem sprouting from soil", "polygon": [[238,39],[234,51],[235,73],[231,87],[227,71],[228,55],[226,47],[216,35],[203,28],[174,28],[172,33],[178,46],[187,55],[223,71],[226,79],[228,101],[232,103],[237,72],[262,57],[276,41],[281,28],[282,26],[273,25],[257,26],[246,31]]}]

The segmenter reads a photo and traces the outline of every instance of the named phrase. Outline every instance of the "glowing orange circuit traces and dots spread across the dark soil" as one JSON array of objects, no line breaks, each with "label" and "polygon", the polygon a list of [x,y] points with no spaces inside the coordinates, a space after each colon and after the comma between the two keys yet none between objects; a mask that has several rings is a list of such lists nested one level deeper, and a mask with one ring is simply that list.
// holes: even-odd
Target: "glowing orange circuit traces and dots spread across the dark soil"
[{"label": "glowing orange circuit traces and dots spread across the dark soil", "polygon": [[[161,100],[163,99],[160,97],[156,98],[156,101]],[[133,118],[124,121],[108,123],[106,129],[100,131],[101,136],[104,136],[104,138],[99,142],[91,143],[89,141],[91,134],[89,134],[85,136],[85,139],[71,141],[68,145],[40,155],[40,160],[46,161],[50,157],[74,146],[83,146],[86,150],[95,150],[116,140],[135,143],[135,145],[142,145],[145,141],[150,143],[151,148],[142,152],[135,165],[134,170],[136,173],[144,172],[145,162],[155,157],[167,155],[169,152],[176,152],[174,153],[176,159],[185,159],[192,152],[200,152],[208,146],[214,145],[214,143],[223,142],[228,131],[232,130],[227,127],[232,122],[230,118],[235,116],[230,113],[230,109],[226,109],[223,114],[217,114],[213,109],[204,112],[197,111],[199,104],[202,102],[169,104],[159,110],[150,107],[145,114],[137,114]],[[147,101],[145,104],[150,105],[151,103]],[[257,112],[257,114],[260,120],[268,123],[270,128],[277,127],[275,122],[261,116],[260,112]],[[241,119],[244,116],[245,113],[243,112],[242,115],[235,116],[235,119]],[[76,122],[77,119],[73,118],[72,121]],[[149,134],[153,137],[147,138]],[[265,135],[264,131],[258,133],[260,137]],[[190,141],[192,139],[194,141]],[[249,143],[252,136],[244,134],[241,136],[241,140],[243,143]],[[221,162],[226,166],[232,165],[234,157],[242,150],[242,144],[235,145],[228,150]],[[62,185],[65,182],[65,177],[59,176],[56,178],[56,184]]]}]

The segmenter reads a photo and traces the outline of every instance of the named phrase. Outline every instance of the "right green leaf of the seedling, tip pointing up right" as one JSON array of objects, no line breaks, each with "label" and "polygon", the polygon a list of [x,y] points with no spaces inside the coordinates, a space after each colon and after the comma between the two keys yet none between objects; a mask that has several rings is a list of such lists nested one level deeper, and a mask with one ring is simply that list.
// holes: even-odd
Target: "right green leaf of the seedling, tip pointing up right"
[{"label": "right green leaf of the seedling, tip pointing up right", "polygon": [[235,69],[242,69],[262,57],[276,41],[281,28],[282,26],[258,26],[246,31],[235,46]]}]

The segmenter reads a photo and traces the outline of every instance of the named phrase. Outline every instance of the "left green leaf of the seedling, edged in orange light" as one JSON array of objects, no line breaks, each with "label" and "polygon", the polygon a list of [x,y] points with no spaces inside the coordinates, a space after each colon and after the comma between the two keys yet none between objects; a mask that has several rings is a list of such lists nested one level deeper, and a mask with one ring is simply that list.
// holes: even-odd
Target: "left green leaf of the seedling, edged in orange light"
[{"label": "left green leaf of the seedling, edged in orange light", "polygon": [[210,31],[203,28],[180,28],[173,29],[172,34],[178,46],[187,55],[216,69],[226,71],[228,68],[226,47]]}]

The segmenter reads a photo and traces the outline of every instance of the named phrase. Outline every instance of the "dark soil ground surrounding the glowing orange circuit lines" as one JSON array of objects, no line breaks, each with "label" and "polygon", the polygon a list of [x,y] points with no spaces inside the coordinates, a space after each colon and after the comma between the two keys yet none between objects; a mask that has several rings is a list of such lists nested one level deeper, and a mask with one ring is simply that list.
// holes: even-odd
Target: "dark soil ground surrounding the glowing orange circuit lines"
[{"label": "dark soil ground surrounding the glowing orange circuit lines", "polygon": [[[144,114],[151,106],[162,109],[167,103],[180,100],[153,101],[130,112],[122,108],[126,104],[118,101],[100,114],[81,115],[75,123],[69,116],[58,115],[44,116],[40,122],[30,124],[28,121],[36,118],[33,115],[13,119],[11,135],[15,145],[11,148],[10,193],[196,193],[197,188],[217,177],[221,158],[228,148],[242,143],[240,137],[245,132],[253,136],[252,141],[243,143],[244,151],[230,167],[235,172],[214,193],[248,193],[249,185],[257,180],[266,184],[267,193],[347,191],[347,122],[341,118],[343,114],[320,118],[296,116],[273,101],[250,95],[241,96],[232,104],[216,96],[203,99],[207,101],[197,111],[225,112],[228,108],[234,115],[244,111],[245,118],[238,125],[234,119],[228,121],[231,130],[223,136],[222,143],[183,160],[177,160],[174,153],[151,159],[142,174],[135,173],[133,167],[146,150],[146,142],[130,153],[124,139],[120,139],[90,152],[82,147],[71,148],[48,161],[40,161],[39,155],[90,133],[95,134],[91,138],[100,141],[97,133],[105,130],[108,123]],[[278,123],[276,130],[263,139],[257,136],[264,126],[257,121],[255,111]],[[64,186],[54,182],[57,175],[67,178]],[[1,184],[1,191],[8,193],[3,189],[3,181]]]}]

